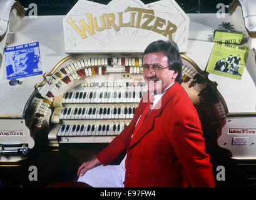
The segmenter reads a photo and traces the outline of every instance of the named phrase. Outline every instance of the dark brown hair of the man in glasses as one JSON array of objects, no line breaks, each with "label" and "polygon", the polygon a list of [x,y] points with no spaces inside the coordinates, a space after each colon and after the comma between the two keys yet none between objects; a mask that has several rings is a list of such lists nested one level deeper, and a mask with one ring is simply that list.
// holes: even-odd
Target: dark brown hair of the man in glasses
[{"label": "dark brown hair of the man in glasses", "polygon": [[168,58],[168,64],[170,70],[178,72],[178,76],[175,79],[176,82],[182,84],[182,57],[177,44],[172,41],[158,40],[151,42],[145,49],[143,56],[150,53],[163,53]]}]

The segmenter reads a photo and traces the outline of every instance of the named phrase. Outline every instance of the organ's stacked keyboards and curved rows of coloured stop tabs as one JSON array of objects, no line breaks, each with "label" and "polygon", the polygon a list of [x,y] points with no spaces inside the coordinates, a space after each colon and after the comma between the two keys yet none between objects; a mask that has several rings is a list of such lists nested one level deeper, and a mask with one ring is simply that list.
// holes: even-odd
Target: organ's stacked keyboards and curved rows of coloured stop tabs
[{"label": "organ's stacked keyboards and curved rows of coloured stop tabs", "polygon": [[[39,88],[39,98],[31,103],[37,105],[33,107],[36,129],[41,128],[42,118],[49,115],[46,110],[53,111],[49,123],[50,144],[110,143],[130,124],[147,89],[140,66],[141,55],[125,56],[129,58],[95,55],[97,59],[89,56],[63,61],[46,76],[46,83]],[[182,55],[182,60],[182,86],[198,113],[207,112],[212,119],[211,126],[223,124],[225,109],[212,83],[189,58]]]}]

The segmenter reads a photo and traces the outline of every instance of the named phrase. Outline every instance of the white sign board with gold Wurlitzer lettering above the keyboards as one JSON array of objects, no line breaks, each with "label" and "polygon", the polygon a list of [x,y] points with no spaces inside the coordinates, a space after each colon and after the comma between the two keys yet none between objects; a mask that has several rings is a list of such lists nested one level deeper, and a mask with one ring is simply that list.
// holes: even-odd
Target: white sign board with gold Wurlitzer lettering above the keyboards
[{"label": "white sign board with gold Wurlitzer lettering above the keyboards", "polygon": [[173,40],[186,52],[189,18],[174,0],[79,0],[63,27],[66,53],[143,52],[158,39]]}]

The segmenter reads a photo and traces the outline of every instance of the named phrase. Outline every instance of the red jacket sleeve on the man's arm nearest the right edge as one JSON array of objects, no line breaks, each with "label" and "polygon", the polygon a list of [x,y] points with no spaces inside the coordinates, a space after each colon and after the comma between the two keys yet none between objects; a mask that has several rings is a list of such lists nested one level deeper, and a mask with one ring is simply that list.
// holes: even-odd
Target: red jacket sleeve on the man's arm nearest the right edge
[{"label": "red jacket sleeve on the man's arm nearest the right edge", "polygon": [[[184,99],[184,96],[183,98]],[[187,99],[187,98],[185,98]],[[176,118],[170,141],[192,187],[215,187],[210,156],[205,153],[205,139],[197,110],[190,99],[174,101],[172,116]]]}]

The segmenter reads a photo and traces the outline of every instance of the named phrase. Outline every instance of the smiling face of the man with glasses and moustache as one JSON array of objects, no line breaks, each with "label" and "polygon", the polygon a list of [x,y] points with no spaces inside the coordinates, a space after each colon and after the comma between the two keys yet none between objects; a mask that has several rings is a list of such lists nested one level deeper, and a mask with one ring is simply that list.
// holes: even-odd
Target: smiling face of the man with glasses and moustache
[{"label": "smiling face of the man with glasses and moustache", "polygon": [[[161,64],[163,68],[169,66],[168,58],[161,52],[145,54],[143,58],[143,64]],[[164,91],[170,84],[175,81],[178,72],[170,70],[168,68],[161,69],[160,71],[153,71],[152,68],[143,71],[143,77],[148,85],[150,91]]]}]

